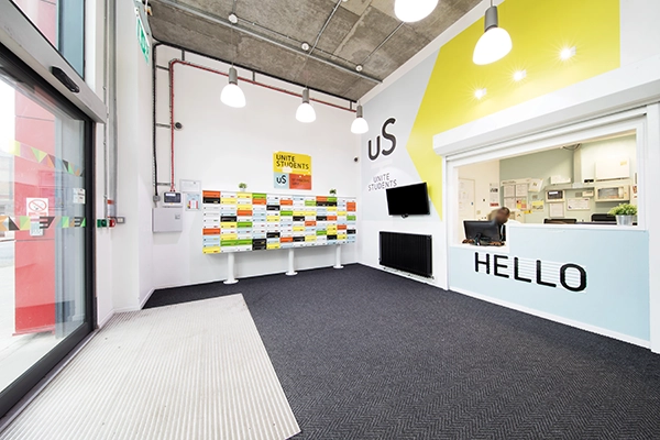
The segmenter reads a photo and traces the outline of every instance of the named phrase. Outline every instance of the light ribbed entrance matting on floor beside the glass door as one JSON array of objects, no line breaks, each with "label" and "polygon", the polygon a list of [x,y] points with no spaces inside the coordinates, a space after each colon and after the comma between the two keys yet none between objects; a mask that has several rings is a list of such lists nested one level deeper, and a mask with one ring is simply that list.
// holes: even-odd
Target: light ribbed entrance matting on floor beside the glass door
[{"label": "light ribbed entrance matting on floor beside the glass door", "polygon": [[242,295],[116,315],[0,439],[300,432]]}]

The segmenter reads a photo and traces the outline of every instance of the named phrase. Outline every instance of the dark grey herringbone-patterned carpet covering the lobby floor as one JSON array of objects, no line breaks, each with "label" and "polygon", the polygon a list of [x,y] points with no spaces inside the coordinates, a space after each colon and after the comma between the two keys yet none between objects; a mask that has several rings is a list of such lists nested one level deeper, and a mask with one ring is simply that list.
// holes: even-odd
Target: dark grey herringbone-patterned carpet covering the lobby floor
[{"label": "dark grey herringbone-patterned carpet covering the lobby floor", "polygon": [[660,355],[361,265],[145,307],[239,292],[296,439],[660,439]]}]

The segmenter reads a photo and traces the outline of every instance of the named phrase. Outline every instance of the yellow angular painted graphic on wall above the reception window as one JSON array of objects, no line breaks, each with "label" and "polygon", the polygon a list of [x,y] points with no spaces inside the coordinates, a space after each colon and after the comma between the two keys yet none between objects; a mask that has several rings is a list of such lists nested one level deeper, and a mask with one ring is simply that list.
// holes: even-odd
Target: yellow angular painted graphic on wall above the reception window
[{"label": "yellow angular painted graphic on wall above the reception window", "polygon": [[[435,134],[620,65],[619,0],[506,0],[498,10],[513,51],[491,65],[472,63],[483,19],[442,46],[406,145],[440,218],[442,160],[432,150]],[[562,61],[566,47],[575,55]],[[516,70],[527,77],[515,81]],[[486,96],[476,99],[476,89]]]}]

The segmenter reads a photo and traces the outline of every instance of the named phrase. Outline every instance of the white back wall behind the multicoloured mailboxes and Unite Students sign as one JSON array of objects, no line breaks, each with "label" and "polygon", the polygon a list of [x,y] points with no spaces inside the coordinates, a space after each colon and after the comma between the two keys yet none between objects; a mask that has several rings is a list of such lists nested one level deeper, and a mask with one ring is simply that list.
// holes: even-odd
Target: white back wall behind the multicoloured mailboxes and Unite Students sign
[{"label": "white back wall behind the multicoloured mailboxes and Unite Students sign", "polygon": [[[158,65],[167,66],[180,52],[166,46],[157,48]],[[229,66],[194,54],[186,61],[227,72]],[[251,74],[239,72],[239,76]],[[156,79],[158,123],[168,124],[168,75],[160,70]],[[292,85],[274,81],[278,87],[299,92]],[[240,84],[248,106],[233,109],[220,102],[227,77],[188,66],[175,67],[175,121],[184,129],[176,131],[175,183],[179,179],[201,180],[204,189],[238,190],[248,184],[248,191],[327,195],[336,188],[339,196],[358,196],[360,164],[359,138],[350,132],[354,113],[314,103],[317,120],[304,124],[295,112],[300,98],[263,87]],[[312,97],[326,99],[312,92]],[[343,102],[348,106],[348,102]],[[169,130],[157,129],[158,182],[169,182]],[[288,191],[275,189],[273,153],[276,151],[309,154],[312,165],[312,189]],[[160,190],[167,190],[166,187]],[[360,207],[359,207],[360,209]],[[184,231],[154,233],[153,286],[168,287],[221,280],[227,278],[227,254],[205,255],[201,244],[201,211],[184,212]],[[358,232],[358,241],[362,231]],[[343,262],[356,262],[354,244],[343,249]],[[331,266],[333,246],[296,250],[296,268]],[[286,272],[284,250],[237,254],[237,276],[249,277]]]}]

